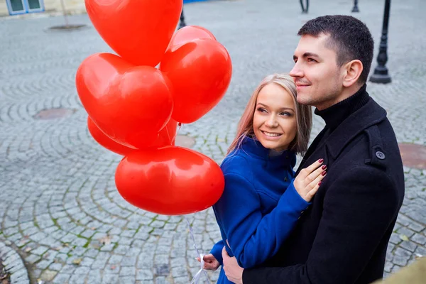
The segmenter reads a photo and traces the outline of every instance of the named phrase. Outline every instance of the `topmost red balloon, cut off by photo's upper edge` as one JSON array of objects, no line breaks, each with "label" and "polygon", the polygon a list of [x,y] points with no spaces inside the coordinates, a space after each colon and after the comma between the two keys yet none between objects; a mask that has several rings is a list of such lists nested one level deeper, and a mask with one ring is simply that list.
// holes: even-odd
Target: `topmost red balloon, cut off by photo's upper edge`
[{"label": "topmost red balloon, cut off by photo's upper edge", "polygon": [[85,0],[105,42],[134,65],[156,66],[175,32],[182,0]]}]

